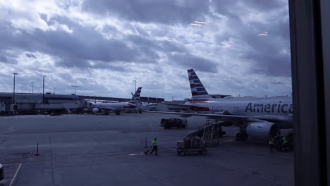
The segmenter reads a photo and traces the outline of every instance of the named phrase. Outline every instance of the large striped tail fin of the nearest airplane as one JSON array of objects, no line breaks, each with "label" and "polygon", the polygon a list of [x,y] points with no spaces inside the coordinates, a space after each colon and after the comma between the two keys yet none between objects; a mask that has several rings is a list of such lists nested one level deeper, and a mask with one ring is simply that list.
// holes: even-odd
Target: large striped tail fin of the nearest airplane
[{"label": "large striped tail fin of the nearest airplane", "polygon": [[213,99],[211,96],[209,96],[207,90],[200,81],[200,78],[198,78],[193,69],[188,69],[188,78],[193,101],[207,101]]}]

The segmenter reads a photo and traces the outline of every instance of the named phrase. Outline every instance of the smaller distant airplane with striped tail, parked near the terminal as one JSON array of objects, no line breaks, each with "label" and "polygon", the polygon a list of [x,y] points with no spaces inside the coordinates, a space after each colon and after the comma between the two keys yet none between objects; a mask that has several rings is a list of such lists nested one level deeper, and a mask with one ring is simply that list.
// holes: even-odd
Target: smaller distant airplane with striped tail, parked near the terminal
[{"label": "smaller distant airplane with striped tail, parked near the terminal", "polygon": [[93,113],[97,113],[99,111],[114,111],[116,115],[119,115],[121,111],[135,109],[135,100],[140,100],[141,89],[142,87],[138,87],[135,94],[133,94],[132,99],[128,102],[92,104],[92,106],[95,107],[92,111]]}]

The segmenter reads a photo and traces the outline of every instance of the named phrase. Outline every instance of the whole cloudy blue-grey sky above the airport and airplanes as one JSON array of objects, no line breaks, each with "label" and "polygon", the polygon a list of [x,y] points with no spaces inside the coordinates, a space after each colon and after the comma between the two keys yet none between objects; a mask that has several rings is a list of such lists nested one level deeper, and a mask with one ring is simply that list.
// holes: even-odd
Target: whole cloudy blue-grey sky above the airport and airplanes
[{"label": "whole cloudy blue-grey sky above the airport and airplanes", "polygon": [[0,0],[0,22],[0,92],[183,99],[193,68],[209,94],[291,94],[286,0]]}]

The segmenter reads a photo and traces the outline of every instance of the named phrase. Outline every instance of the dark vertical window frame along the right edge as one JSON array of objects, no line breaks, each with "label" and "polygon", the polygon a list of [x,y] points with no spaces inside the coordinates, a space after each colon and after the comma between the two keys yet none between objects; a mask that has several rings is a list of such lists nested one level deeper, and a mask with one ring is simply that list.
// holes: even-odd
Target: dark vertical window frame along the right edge
[{"label": "dark vertical window frame along the right edge", "polygon": [[327,0],[289,0],[295,185],[329,185],[328,9]]}]

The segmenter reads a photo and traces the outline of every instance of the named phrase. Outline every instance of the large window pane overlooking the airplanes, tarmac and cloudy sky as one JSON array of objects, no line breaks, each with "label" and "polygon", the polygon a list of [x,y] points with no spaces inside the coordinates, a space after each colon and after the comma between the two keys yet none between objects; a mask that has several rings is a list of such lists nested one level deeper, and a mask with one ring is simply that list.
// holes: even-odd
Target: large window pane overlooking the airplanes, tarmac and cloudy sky
[{"label": "large window pane overlooking the airplanes, tarmac and cloudy sky", "polygon": [[284,0],[0,1],[5,180],[292,185],[288,21]]}]

